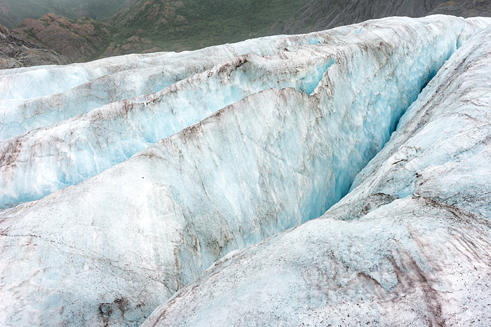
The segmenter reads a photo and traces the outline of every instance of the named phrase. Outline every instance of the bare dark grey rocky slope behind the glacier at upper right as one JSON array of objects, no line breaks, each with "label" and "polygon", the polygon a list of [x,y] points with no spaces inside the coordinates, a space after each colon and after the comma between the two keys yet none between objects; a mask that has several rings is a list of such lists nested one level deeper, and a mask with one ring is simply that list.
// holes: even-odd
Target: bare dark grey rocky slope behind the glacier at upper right
[{"label": "bare dark grey rocky slope behind the glacier at upper right", "polygon": [[269,35],[322,31],[390,16],[423,17],[441,13],[462,17],[489,16],[490,0],[311,0],[295,17],[278,20]]}]

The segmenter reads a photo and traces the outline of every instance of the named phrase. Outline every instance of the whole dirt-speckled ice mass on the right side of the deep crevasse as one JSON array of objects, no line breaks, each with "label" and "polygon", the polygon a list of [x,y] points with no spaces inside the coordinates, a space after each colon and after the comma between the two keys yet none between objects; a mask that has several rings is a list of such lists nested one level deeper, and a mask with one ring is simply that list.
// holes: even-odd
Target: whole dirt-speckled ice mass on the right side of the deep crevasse
[{"label": "whole dirt-speckled ice mass on the right side of the deep crevasse", "polygon": [[341,202],[229,253],[142,327],[490,326],[490,94],[488,27]]}]

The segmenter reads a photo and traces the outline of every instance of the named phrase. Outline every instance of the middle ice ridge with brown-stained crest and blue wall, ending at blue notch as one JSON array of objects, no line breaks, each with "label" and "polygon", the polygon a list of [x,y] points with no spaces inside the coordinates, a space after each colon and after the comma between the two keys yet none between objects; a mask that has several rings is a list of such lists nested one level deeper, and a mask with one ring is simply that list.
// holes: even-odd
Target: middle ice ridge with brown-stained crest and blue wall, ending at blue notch
[{"label": "middle ice ridge with brown-stained crest and blue wall, ending at blue notch", "polygon": [[311,93],[333,62],[306,50],[297,50],[294,60],[243,55],[161,92],[0,142],[0,207],[39,200],[95,176],[253,93],[287,87]]}]

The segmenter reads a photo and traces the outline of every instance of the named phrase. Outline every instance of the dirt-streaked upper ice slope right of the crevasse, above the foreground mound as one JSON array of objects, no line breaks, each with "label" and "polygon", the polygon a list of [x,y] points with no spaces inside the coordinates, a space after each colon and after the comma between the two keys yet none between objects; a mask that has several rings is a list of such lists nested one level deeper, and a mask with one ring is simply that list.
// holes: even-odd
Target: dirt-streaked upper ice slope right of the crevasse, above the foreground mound
[{"label": "dirt-streaked upper ice slope right of the crevasse, above the foreground mound", "polygon": [[343,203],[375,193],[419,194],[491,218],[489,36],[489,29],[478,34],[440,70],[431,82],[438,92],[423,90]]}]

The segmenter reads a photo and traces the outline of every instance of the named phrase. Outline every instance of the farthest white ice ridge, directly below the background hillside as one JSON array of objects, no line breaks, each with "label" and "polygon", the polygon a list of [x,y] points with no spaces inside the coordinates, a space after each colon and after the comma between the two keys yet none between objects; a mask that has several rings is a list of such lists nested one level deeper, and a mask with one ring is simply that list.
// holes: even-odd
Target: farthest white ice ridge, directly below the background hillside
[{"label": "farthest white ice ridge, directly below the background hillside", "polygon": [[[330,31],[339,39],[354,27]],[[324,33],[323,39],[326,39]],[[0,71],[0,140],[46,127],[105,104],[149,95],[239,55],[274,55],[318,34],[269,36],[183,53],[111,57],[84,64]]]}]

